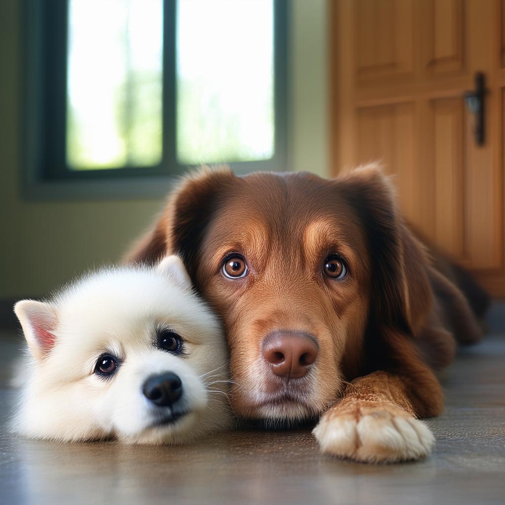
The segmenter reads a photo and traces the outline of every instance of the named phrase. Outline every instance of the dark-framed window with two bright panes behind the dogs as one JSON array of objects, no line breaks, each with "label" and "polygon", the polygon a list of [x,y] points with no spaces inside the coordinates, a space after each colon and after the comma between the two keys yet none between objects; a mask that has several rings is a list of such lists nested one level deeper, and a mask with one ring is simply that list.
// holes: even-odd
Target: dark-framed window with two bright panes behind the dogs
[{"label": "dark-framed window with two bright panes behind the dogs", "polygon": [[26,3],[37,180],[284,168],[286,0]]}]

